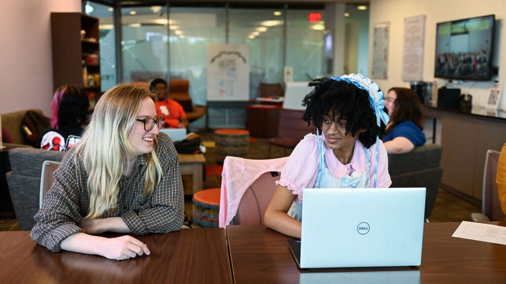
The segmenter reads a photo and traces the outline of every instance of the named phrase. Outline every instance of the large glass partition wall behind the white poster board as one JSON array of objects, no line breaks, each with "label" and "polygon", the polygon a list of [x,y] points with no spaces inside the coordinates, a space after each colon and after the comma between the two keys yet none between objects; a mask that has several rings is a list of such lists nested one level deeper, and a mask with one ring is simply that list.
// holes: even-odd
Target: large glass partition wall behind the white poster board
[{"label": "large glass partition wall behind the white poster board", "polygon": [[[209,42],[248,44],[250,99],[259,97],[260,83],[283,85],[285,66],[292,68],[294,81],[309,81],[331,73],[326,64],[328,55],[324,58],[328,31],[322,4],[297,7],[283,3],[267,6],[235,2],[138,3],[117,5],[120,11],[115,21],[112,7],[104,8],[109,14],[96,15],[104,27],[104,44],[114,44],[114,32],[120,30],[117,38],[120,38],[121,60],[118,64],[109,60],[109,66],[120,66],[121,72],[118,72],[119,78],[108,77],[107,64],[103,64],[102,78],[110,78],[110,83],[103,81],[104,88],[117,82],[149,81],[155,77],[183,78],[190,81],[193,103],[206,105],[206,44]],[[120,23],[120,29],[114,28],[115,22]],[[115,58],[114,49],[101,45],[102,57],[105,61]],[[114,74],[110,70],[108,73]],[[199,128],[205,127],[205,120],[200,124]]]}]

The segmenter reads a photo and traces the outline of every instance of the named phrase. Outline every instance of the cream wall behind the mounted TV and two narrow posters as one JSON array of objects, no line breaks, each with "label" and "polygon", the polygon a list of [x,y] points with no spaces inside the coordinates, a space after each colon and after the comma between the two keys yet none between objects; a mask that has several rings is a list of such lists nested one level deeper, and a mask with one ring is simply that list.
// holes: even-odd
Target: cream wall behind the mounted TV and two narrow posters
[{"label": "cream wall behind the mounted TV and two narrow posters", "polygon": [[[375,82],[383,90],[393,86],[409,87],[409,82],[402,80],[402,53],[404,18],[420,14],[426,15],[425,22],[425,53],[424,53],[424,81],[437,81],[439,86],[446,81],[434,78],[434,65],[436,53],[436,23],[495,14],[495,46],[493,65],[499,66],[498,79],[506,83],[506,32],[504,19],[506,9],[503,0],[370,0],[369,24],[369,75],[372,69],[372,43],[374,23],[390,22],[388,79]],[[473,105],[483,106],[488,96],[492,81],[461,82],[458,86],[462,93],[473,95]],[[502,94],[499,108],[506,110],[506,95]]]}]

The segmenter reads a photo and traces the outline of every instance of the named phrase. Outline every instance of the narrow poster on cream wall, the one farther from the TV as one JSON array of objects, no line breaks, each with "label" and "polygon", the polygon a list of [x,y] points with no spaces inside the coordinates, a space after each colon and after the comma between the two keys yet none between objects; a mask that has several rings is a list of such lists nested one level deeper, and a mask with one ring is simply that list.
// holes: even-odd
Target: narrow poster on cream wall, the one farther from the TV
[{"label": "narrow poster on cream wall, the one farther from the TV", "polygon": [[372,49],[372,78],[388,78],[388,38],[390,22],[374,24]]}]

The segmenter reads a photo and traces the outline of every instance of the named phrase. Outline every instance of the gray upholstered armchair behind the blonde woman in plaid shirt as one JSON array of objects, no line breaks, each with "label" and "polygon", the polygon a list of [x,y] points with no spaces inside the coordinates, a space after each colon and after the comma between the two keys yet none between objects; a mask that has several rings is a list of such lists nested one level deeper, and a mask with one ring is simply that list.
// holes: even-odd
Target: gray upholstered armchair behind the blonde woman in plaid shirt
[{"label": "gray upholstered armchair behind the blonde woman in plaid shirt", "polygon": [[14,213],[22,230],[35,225],[33,216],[39,208],[40,173],[44,161],[61,161],[65,152],[34,148],[9,151],[11,171],[6,174]]}]

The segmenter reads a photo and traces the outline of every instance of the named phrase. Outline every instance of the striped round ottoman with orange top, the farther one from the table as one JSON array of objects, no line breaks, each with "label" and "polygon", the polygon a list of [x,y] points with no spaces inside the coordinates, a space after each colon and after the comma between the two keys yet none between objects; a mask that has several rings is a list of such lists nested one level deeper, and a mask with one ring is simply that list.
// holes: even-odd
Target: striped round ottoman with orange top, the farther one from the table
[{"label": "striped round ottoman with orange top, the farther one from the table", "polygon": [[223,164],[227,156],[244,157],[249,151],[249,131],[245,129],[215,130],[216,162]]}]

